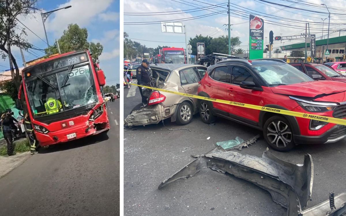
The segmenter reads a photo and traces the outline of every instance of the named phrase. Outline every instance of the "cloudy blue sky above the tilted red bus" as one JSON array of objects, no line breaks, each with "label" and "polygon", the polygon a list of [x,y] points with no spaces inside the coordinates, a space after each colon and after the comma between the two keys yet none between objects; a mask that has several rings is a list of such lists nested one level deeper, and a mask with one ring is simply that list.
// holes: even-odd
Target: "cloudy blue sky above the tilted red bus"
[{"label": "cloudy blue sky above the tilted red bus", "polygon": [[[78,24],[88,29],[88,41],[100,42],[103,52],[100,56],[100,67],[106,75],[107,85],[119,83],[119,0],[38,0],[37,7],[51,11],[71,5],[52,13],[45,22],[49,44],[62,36],[68,24]],[[47,47],[40,11],[28,17],[18,19],[35,32],[28,29],[26,39],[35,47]],[[11,47],[19,66],[22,66],[20,52],[17,47]],[[24,51],[26,61],[43,56],[39,50]],[[9,68],[8,59],[0,60],[0,72]]]}]

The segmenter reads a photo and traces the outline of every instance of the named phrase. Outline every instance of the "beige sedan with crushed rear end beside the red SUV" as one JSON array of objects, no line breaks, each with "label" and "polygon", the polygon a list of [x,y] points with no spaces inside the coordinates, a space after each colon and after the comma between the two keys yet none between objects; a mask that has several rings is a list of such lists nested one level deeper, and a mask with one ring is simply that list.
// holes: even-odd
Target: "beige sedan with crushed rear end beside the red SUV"
[{"label": "beige sedan with crushed rear end beside the red SUV", "polygon": [[[175,92],[197,94],[199,81],[207,72],[207,67],[188,64],[151,65],[151,86]],[[171,118],[178,124],[189,124],[192,115],[198,113],[197,99],[142,88],[148,96],[148,103],[135,106],[124,124],[127,126],[157,124]]]}]

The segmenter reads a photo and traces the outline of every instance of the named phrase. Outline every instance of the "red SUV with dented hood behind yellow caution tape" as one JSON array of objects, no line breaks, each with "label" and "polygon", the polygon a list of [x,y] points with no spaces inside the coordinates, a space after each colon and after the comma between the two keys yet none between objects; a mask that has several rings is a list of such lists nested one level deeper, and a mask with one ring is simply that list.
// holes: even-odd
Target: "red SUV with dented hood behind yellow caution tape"
[{"label": "red SUV with dented hood behind yellow caution tape", "polygon": [[[346,83],[314,81],[282,60],[232,59],[208,67],[198,95],[328,117],[346,118]],[[263,130],[268,145],[288,151],[295,144],[332,143],[346,126],[222,103],[199,101],[204,123],[221,116]]]}]

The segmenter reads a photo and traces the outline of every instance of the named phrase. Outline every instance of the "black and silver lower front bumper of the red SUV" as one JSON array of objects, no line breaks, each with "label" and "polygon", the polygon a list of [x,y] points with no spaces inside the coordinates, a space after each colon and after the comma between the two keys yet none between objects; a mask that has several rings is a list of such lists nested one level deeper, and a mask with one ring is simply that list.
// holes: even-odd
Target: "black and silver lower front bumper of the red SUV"
[{"label": "black and silver lower front bumper of the red SUV", "polygon": [[334,143],[346,137],[346,126],[335,125],[326,133],[319,136],[293,135],[294,142],[297,144],[322,144]]}]

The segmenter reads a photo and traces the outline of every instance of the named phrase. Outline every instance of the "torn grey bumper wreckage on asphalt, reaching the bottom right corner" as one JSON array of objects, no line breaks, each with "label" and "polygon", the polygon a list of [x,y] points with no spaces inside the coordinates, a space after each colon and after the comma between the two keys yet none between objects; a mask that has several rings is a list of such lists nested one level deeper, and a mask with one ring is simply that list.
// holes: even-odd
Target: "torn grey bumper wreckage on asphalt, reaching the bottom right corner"
[{"label": "torn grey bumper wreckage on asphalt, reaching the bottom right corner", "polygon": [[303,166],[297,166],[276,158],[268,151],[264,151],[262,158],[258,158],[226,151],[218,146],[163,181],[158,189],[176,180],[190,178],[208,167],[221,173],[228,172],[269,191],[275,203],[287,208],[287,216],[339,216],[346,212],[346,193],[334,198],[336,209],[332,210],[330,200],[327,200],[303,210],[312,191],[313,163],[310,154],[305,155]]}]

